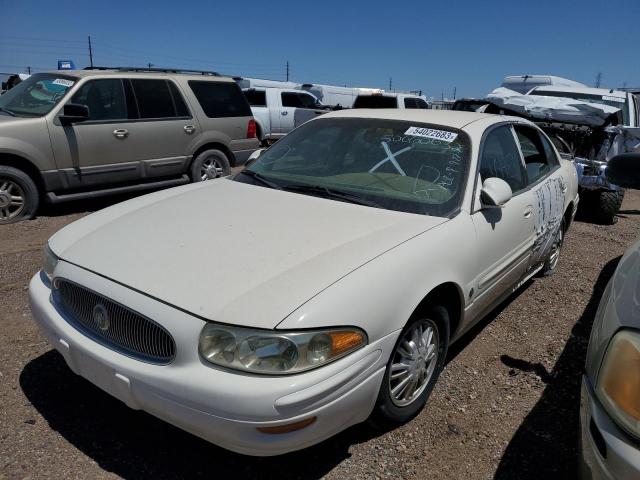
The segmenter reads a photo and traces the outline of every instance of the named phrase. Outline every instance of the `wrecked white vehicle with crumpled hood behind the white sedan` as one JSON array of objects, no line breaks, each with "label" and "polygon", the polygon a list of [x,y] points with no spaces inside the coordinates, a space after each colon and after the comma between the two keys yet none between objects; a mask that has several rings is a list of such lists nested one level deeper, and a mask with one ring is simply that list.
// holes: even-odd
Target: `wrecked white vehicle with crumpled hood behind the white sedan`
[{"label": "wrecked white vehicle with crumpled hood behind the white sedan", "polygon": [[521,94],[505,87],[486,98],[459,100],[455,110],[515,115],[538,125],[564,158],[573,161],[581,210],[600,223],[616,220],[624,189],[605,177],[607,162],[619,153],[640,151],[638,99],[603,88],[538,86]]}]

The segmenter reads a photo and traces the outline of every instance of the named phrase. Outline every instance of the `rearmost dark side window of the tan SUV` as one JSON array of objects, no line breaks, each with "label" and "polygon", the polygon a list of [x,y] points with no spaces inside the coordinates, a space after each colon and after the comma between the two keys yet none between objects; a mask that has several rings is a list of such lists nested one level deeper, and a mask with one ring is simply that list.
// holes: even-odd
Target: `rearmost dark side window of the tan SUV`
[{"label": "rearmost dark side window of the tan SUV", "polygon": [[190,80],[189,87],[209,118],[251,116],[251,107],[235,82]]}]

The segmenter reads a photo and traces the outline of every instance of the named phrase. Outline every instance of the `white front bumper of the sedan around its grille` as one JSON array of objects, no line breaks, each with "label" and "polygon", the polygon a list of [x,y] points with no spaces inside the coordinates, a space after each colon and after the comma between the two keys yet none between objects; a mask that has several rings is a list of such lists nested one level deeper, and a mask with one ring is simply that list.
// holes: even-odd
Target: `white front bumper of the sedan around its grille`
[{"label": "white front bumper of the sedan around its grille", "polygon": [[[50,300],[51,290],[37,274],[29,287],[33,317],[75,373],[131,408],[248,455],[305,448],[364,421],[373,410],[399,334],[298,375],[230,372],[209,366],[198,356],[203,320],[63,261],[56,275],[153,318],[173,335],[177,346],[171,364],[152,365],[95,342],[63,318]],[[302,430],[285,434],[256,430],[312,416],[316,421]]]}]

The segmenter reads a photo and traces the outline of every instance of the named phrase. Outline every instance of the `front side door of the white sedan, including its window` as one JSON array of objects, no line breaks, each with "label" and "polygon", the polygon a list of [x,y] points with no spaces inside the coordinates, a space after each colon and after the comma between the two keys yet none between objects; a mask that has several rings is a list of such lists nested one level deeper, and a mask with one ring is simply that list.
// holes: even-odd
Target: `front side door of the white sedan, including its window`
[{"label": "front side door of the white sedan, including its window", "polygon": [[[534,241],[534,199],[511,125],[499,125],[486,134],[479,163],[471,215],[478,245],[472,308],[478,314],[495,306],[523,279]],[[482,182],[490,177],[506,181],[513,191],[502,208],[486,208],[480,201]]]}]

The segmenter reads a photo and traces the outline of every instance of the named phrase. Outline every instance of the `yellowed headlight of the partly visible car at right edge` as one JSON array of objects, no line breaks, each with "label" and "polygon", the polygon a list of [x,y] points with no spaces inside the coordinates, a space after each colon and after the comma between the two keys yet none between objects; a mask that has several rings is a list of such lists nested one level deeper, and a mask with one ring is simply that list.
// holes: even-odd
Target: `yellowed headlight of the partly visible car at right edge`
[{"label": "yellowed headlight of the partly visible car at right edge", "polygon": [[640,333],[618,332],[607,347],[596,393],[618,425],[640,437]]}]

